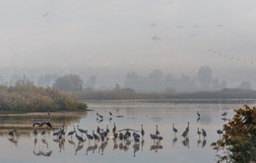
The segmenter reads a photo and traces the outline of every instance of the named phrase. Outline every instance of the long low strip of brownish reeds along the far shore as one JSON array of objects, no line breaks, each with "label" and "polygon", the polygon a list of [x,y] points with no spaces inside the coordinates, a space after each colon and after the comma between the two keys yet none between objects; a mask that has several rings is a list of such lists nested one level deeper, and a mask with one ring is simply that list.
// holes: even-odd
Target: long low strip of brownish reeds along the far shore
[{"label": "long low strip of brownish reeds along the far shore", "polygon": [[125,99],[255,99],[256,91],[240,88],[224,88],[216,91],[190,93],[142,93],[133,89],[94,90],[84,89],[74,92],[79,100],[125,100]]}]

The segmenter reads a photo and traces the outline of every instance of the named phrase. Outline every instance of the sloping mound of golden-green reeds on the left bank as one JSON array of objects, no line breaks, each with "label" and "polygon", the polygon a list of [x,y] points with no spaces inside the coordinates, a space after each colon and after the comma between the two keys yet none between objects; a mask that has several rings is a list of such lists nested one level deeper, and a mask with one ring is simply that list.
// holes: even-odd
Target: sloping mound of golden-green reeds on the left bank
[{"label": "sloping mound of golden-green reeds on the left bank", "polygon": [[50,87],[38,87],[30,81],[0,85],[0,111],[47,112],[86,110],[87,105],[67,93]]}]

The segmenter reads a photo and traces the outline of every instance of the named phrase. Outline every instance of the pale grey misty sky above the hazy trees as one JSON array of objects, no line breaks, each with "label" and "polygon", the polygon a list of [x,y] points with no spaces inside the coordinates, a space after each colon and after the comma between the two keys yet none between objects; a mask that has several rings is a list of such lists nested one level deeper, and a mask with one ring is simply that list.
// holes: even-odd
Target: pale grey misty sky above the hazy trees
[{"label": "pale grey misty sky above the hazy trees", "polygon": [[121,82],[208,65],[214,78],[256,88],[255,0],[1,0],[0,13],[0,69],[79,68]]}]

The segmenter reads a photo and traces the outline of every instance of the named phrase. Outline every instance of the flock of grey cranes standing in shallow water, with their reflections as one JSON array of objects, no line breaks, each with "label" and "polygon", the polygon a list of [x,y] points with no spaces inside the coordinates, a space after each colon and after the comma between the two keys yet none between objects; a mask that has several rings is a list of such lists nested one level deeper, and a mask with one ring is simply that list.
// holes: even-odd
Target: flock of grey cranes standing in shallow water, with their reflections
[{"label": "flock of grey cranes standing in shallow water, with their reflections", "polygon": [[[227,114],[227,112],[224,112],[222,114],[223,117],[225,117]],[[109,111],[109,115],[110,115],[110,119],[112,119],[112,112]],[[52,129],[52,125],[50,123],[50,113],[48,113],[48,120],[45,122],[34,122],[32,124],[32,128],[33,128],[33,135],[35,136],[33,143],[34,143],[34,147],[37,143],[37,137],[36,135],[38,135],[38,132],[36,131],[36,128],[41,128],[42,132],[41,132],[41,141],[46,145],[46,148],[48,148],[48,143],[45,139],[45,136],[47,134],[47,130],[51,130]],[[201,115],[200,113],[197,111],[197,122],[199,121]],[[98,112],[96,112],[96,122],[102,122],[103,120],[103,116],[98,114]],[[172,139],[172,145],[174,146],[174,143],[177,141],[177,136],[176,134],[178,133],[178,130],[174,127],[174,123],[172,124],[172,132],[174,134],[174,138]],[[18,144],[17,138],[16,137],[16,133],[17,133],[17,129],[12,130],[11,132],[9,132],[9,140],[11,142],[13,142],[15,145]],[[124,150],[127,151],[129,149],[129,146],[131,145],[131,142],[133,141],[133,148],[134,148],[134,156],[136,151],[138,151],[140,149],[140,146],[142,147],[143,150],[143,146],[145,143],[144,140],[144,136],[145,136],[145,130],[143,128],[143,125],[141,125],[141,130],[137,131],[134,129],[122,129],[122,130],[118,130],[116,128],[115,123],[113,123],[113,128],[111,131],[112,134],[110,134],[110,131],[108,129],[108,125],[106,125],[105,130],[102,128],[99,128],[98,126],[96,127],[96,132],[92,131],[92,135],[89,134],[88,130],[84,130],[81,129],[79,127],[79,125],[77,125],[76,127],[73,125],[73,131],[70,131],[69,133],[67,133],[68,136],[68,142],[72,145],[74,145],[75,148],[75,155],[77,154],[77,152],[79,150],[81,150],[84,147],[84,142],[88,139],[89,141],[89,146],[87,148],[87,152],[86,154],[88,154],[89,151],[93,151],[93,153],[95,153],[95,150],[98,149],[98,153],[100,153],[101,155],[103,155],[103,151],[104,148],[106,147],[109,138],[113,139],[114,142],[114,146],[113,146],[113,150],[119,148],[120,150]],[[206,145],[206,139],[205,137],[207,136],[207,132],[204,129],[199,130],[199,128],[197,129],[197,134],[199,136],[198,141],[197,141],[197,147],[199,147],[199,145],[202,143],[202,148]],[[221,139],[221,135],[223,134],[222,130],[218,130],[217,134],[220,135],[220,139]],[[60,152],[62,149],[64,149],[64,143],[65,143],[65,135],[66,135],[66,131],[65,131],[65,125],[63,124],[62,128],[53,133],[53,141],[57,142],[59,144],[59,149]],[[182,137],[184,138],[182,140],[182,143],[184,146],[187,146],[189,148],[189,122],[187,123],[187,127],[185,129],[185,131],[182,133]],[[78,143],[76,145],[76,143],[73,141],[73,136],[76,136],[76,139],[78,140]],[[201,136],[203,136],[203,141],[201,140]],[[159,126],[156,125],[156,133],[155,134],[150,134],[151,139],[154,140],[153,145],[151,145],[151,150],[154,150],[156,152],[158,152],[159,149],[162,148],[162,145],[160,144],[160,141],[163,139],[162,136],[160,136],[160,131],[159,131]],[[119,142],[119,144],[117,143],[117,140]],[[94,145],[91,145],[91,141],[94,141]],[[97,142],[101,142],[100,145],[97,147]],[[100,152],[101,151],[101,152]],[[35,152],[35,150],[33,150],[33,154],[34,155],[43,155],[43,156],[50,156],[52,153],[52,151],[42,151],[39,150],[37,152]]]}]

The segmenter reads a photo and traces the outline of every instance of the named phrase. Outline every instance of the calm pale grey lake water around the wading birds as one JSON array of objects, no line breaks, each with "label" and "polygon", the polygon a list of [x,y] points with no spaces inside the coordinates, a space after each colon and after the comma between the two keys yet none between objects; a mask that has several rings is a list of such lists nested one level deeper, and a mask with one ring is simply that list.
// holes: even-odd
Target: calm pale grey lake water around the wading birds
[{"label": "calm pale grey lake water around the wading birds", "polygon": [[[0,162],[216,162],[215,151],[211,147],[226,121],[222,114],[227,112],[226,119],[233,116],[233,109],[242,104],[173,104],[173,103],[128,103],[128,102],[92,102],[88,103],[87,113],[51,113],[52,130],[41,136],[42,129],[36,128],[33,135],[32,124],[35,121],[46,121],[47,113],[26,115],[2,115],[0,131]],[[110,119],[108,112],[114,116]],[[96,121],[96,111],[104,118]],[[201,114],[198,120],[197,111]],[[119,117],[120,116],[120,117]],[[190,123],[188,139],[181,135]],[[68,137],[73,126],[88,130],[92,135],[96,127],[106,129],[108,125],[112,136],[113,123],[117,131],[129,128],[141,131],[144,125],[146,135],[136,144],[133,137],[129,140],[113,140],[111,137],[104,142],[86,140],[79,143],[75,136]],[[178,130],[176,136],[172,132],[172,124]],[[66,135],[58,140],[52,134],[65,124]],[[150,138],[159,126],[163,140],[157,145]],[[8,133],[18,128],[17,136]],[[205,139],[197,135],[197,128],[207,132]],[[78,133],[80,136],[81,134]],[[84,135],[84,137],[86,137]],[[143,140],[142,140],[143,139]]]}]

